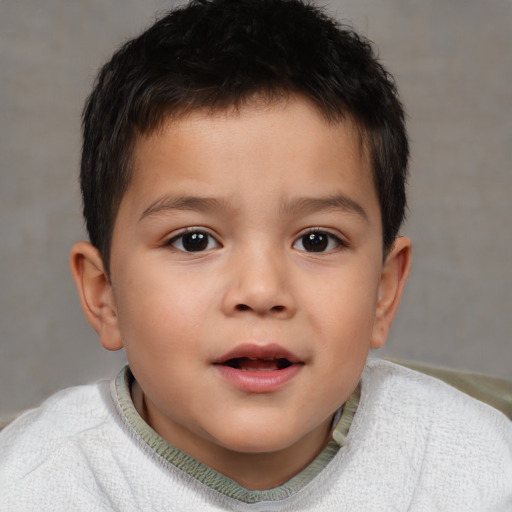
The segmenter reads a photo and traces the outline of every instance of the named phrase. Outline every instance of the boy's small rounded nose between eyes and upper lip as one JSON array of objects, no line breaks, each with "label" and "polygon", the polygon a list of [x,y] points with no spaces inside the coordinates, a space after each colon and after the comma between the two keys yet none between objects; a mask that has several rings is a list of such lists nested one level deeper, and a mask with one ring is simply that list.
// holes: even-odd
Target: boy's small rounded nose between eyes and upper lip
[{"label": "boy's small rounded nose between eyes and upper lip", "polygon": [[229,262],[222,308],[227,315],[253,313],[290,318],[296,312],[290,270],[279,251],[253,247]]}]

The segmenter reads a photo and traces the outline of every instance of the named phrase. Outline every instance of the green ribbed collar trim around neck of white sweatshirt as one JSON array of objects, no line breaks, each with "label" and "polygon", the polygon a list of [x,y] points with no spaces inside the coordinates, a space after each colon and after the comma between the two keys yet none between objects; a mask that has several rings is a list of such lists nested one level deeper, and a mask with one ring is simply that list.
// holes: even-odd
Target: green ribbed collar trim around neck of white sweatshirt
[{"label": "green ribbed collar trim around neck of white sweatshirt", "polygon": [[300,491],[309,484],[345,445],[352,418],[357,410],[360,397],[360,385],[357,386],[343,406],[341,416],[333,429],[332,437],[325,448],[306,468],[287,482],[272,489],[247,489],[227,476],[209,468],[197,459],[169,444],[160,437],[139,415],[130,394],[134,377],[130,368],[125,366],[115,381],[117,400],[121,410],[135,432],[158,455],[200,481],[211,489],[244,503],[262,501],[280,501]]}]

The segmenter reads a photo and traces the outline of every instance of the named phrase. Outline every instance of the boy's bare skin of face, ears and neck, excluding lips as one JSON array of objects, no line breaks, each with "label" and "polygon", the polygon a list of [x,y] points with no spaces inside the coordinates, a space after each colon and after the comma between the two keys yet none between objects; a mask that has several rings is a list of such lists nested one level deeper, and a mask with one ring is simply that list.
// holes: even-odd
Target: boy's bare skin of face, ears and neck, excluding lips
[{"label": "boy's bare skin of face, ears and neck, excluding lips", "polygon": [[[241,485],[279,485],[322,450],[384,344],[410,242],[383,259],[357,130],[299,98],[169,121],[138,139],[133,163],[111,279],[89,243],[72,250],[84,312],[105,348],[125,349],[136,407],[164,439]],[[315,228],[319,252],[304,238]],[[204,250],[185,250],[187,229],[207,235]],[[270,392],[215,364],[270,343],[300,361]]]}]

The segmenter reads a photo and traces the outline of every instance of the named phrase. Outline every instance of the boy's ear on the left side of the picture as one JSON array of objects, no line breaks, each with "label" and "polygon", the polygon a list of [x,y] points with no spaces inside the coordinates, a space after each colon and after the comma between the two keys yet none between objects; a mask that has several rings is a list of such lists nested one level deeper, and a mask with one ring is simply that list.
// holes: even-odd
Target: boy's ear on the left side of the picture
[{"label": "boy's ear on the left side of the picture", "polygon": [[123,347],[110,279],[96,247],[77,242],[71,249],[71,274],[78,289],[85,317],[107,350]]}]

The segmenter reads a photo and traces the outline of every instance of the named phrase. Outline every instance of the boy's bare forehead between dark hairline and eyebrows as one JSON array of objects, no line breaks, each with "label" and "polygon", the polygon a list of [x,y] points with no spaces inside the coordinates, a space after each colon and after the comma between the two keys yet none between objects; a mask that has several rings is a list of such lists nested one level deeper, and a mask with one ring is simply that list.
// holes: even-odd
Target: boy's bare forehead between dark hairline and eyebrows
[{"label": "boy's bare forehead between dark hairline and eyebrows", "polygon": [[[126,195],[138,196],[147,207],[158,184],[165,188],[174,183],[178,189],[195,186],[215,196],[235,191],[250,200],[257,195],[256,184],[272,183],[269,200],[279,190],[281,203],[286,196],[304,195],[308,186],[323,196],[336,192],[333,186],[348,186],[351,194],[357,196],[360,189],[377,201],[370,162],[351,119],[329,123],[300,98],[253,102],[223,111],[193,111],[139,135]],[[239,186],[228,186],[234,183]]]}]

